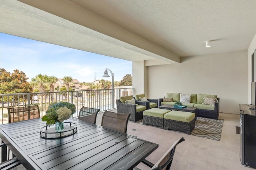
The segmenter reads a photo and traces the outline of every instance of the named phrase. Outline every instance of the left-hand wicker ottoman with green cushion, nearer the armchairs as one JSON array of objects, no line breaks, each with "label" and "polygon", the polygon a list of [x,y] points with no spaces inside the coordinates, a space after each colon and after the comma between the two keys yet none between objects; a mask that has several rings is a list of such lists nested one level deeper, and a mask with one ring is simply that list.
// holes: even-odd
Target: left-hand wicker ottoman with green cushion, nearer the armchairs
[{"label": "left-hand wicker ottoman with green cushion, nearer the armchairs", "polygon": [[164,115],[168,109],[151,108],[143,111],[143,125],[153,125],[164,129]]}]

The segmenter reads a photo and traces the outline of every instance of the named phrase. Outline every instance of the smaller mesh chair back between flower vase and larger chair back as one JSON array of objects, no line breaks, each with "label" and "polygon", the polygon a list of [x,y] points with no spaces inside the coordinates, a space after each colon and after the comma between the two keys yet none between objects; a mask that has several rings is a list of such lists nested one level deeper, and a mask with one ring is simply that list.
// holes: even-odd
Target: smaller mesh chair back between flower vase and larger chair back
[{"label": "smaller mesh chair back between flower vase and larger chair back", "polygon": [[90,107],[82,107],[79,111],[78,119],[86,121],[88,123],[96,123],[97,114],[100,109],[94,109]]}]

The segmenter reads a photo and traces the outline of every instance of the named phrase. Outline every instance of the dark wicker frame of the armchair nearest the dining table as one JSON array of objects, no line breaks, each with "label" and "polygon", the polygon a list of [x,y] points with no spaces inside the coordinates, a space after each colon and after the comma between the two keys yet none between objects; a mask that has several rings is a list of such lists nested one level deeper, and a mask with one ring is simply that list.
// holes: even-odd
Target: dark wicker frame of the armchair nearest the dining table
[{"label": "dark wicker frame of the armchair nearest the dining table", "polygon": [[[143,106],[147,106],[146,102],[142,102],[142,101],[135,101],[136,104],[138,105],[143,105]],[[117,105],[117,112],[118,113],[130,113],[130,117],[129,120],[136,122],[140,119],[143,118],[143,111],[137,112],[136,111],[136,104],[126,104],[126,103],[122,103],[120,101],[120,99],[116,100],[116,105]]]}]

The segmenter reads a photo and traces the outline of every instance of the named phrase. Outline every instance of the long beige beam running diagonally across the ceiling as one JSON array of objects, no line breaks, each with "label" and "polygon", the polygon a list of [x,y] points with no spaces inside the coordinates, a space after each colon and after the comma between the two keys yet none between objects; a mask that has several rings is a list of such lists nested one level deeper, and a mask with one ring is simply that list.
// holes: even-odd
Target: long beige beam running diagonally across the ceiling
[{"label": "long beige beam running diagonally across the ceiling", "polygon": [[180,57],[73,4],[69,0],[19,0],[25,4],[154,53],[156,59],[180,63]]}]

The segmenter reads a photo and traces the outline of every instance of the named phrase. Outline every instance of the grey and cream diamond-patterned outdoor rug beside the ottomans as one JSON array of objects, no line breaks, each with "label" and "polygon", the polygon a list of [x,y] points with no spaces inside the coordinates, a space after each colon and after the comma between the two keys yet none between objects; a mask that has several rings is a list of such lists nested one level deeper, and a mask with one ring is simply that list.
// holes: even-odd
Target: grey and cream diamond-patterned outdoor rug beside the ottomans
[{"label": "grey and cream diamond-patterned outdoor rug beside the ottomans", "polygon": [[[206,117],[197,117],[195,128],[191,132],[191,135],[220,141],[223,121],[223,119],[216,120]],[[136,121],[136,123],[143,125],[143,119]]]}]

